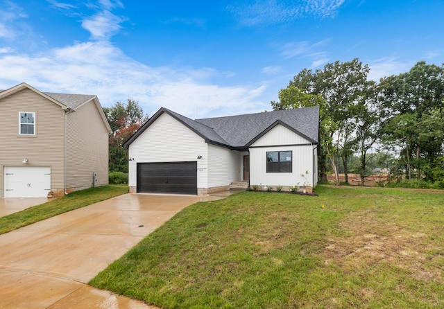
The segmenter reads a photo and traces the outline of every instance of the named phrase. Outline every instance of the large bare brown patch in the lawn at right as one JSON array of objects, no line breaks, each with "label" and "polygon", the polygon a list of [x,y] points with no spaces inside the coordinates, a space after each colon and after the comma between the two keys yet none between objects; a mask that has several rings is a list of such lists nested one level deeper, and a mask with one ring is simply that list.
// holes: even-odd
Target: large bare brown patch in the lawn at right
[{"label": "large bare brown patch in the lawn at right", "polygon": [[339,236],[329,239],[321,257],[326,265],[334,264],[344,272],[392,265],[413,278],[443,283],[443,270],[427,260],[443,258],[426,233],[411,232],[395,223],[380,222],[377,210],[358,211],[339,225]]}]

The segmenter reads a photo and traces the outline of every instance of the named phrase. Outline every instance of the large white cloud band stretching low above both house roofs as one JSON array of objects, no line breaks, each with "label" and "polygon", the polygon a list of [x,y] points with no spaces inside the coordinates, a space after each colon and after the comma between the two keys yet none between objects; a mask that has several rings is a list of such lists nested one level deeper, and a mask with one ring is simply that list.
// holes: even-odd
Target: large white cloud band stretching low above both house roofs
[{"label": "large white cloud band stretching low above both house roofs", "polygon": [[108,42],[85,42],[40,55],[0,55],[0,88],[20,82],[42,91],[96,94],[103,106],[134,98],[153,114],[160,107],[201,118],[259,112],[265,85],[221,87],[213,69],[148,67]]}]

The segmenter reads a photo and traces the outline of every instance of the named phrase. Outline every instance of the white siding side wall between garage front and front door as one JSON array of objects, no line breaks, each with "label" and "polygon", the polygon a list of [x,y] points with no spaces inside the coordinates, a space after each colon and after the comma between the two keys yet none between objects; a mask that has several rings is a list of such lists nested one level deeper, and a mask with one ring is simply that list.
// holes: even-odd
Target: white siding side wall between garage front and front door
[{"label": "white siding side wall between garage front and front door", "polygon": [[241,180],[239,152],[216,145],[208,145],[208,187],[228,186]]}]

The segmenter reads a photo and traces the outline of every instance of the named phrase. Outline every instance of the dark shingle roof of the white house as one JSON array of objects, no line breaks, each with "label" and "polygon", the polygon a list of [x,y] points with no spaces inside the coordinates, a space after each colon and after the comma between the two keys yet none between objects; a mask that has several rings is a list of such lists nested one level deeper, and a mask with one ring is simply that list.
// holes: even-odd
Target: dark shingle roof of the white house
[{"label": "dark shingle roof of the white house", "polygon": [[207,143],[229,148],[248,148],[275,125],[284,125],[311,143],[318,143],[319,107],[192,120],[162,107],[133,136],[123,143],[128,148],[160,115],[167,113],[201,136]]}]

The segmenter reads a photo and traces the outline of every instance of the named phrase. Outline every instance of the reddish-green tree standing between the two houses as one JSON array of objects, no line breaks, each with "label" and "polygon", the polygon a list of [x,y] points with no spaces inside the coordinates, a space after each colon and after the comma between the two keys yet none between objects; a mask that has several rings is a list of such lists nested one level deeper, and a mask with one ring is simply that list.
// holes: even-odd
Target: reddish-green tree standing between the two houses
[{"label": "reddish-green tree standing between the two houses", "polygon": [[128,173],[128,150],[122,148],[122,143],[148,120],[148,115],[144,114],[142,107],[133,99],[104,107],[103,112],[112,130],[109,138],[110,172]]}]

